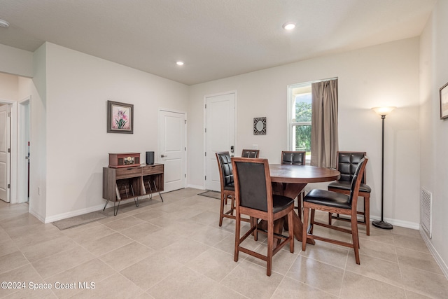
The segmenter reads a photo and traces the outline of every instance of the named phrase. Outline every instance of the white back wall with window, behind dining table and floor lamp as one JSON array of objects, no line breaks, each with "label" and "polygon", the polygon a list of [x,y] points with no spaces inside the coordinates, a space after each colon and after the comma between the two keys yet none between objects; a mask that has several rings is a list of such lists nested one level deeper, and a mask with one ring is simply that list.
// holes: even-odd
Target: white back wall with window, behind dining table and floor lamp
[{"label": "white back wall with window, behind dining table and floor lamp", "polygon": [[[419,39],[364,48],[190,86],[190,186],[204,186],[204,96],[237,90],[237,150],[258,144],[279,162],[286,144],[287,85],[339,78],[339,150],[367,151],[372,218],[381,214],[381,118],[370,108],[397,106],[386,118],[384,217],[419,228]],[[253,118],[267,134],[253,135]],[[409,163],[409,161],[411,161]]]}]

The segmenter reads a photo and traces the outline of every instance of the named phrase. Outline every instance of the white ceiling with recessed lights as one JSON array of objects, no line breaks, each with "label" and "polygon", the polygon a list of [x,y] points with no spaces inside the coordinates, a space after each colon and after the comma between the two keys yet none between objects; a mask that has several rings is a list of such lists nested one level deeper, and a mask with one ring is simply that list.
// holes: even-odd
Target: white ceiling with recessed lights
[{"label": "white ceiling with recessed lights", "polygon": [[[436,0],[0,0],[0,43],[45,41],[193,85],[419,36]],[[287,32],[287,21],[297,27]],[[182,67],[176,61],[182,60]]]}]

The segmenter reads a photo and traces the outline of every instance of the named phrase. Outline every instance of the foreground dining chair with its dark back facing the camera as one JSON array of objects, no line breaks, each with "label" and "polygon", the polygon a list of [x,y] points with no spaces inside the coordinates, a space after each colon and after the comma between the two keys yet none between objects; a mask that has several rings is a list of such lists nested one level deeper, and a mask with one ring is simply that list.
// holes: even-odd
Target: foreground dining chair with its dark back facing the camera
[{"label": "foreground dining chair with its dark back facing the camera", "polygon": [[[289,243],[289,251],[294,253],[294,232],[293,213],[294,200],[289,197],[272,194],[271,176],[269,174],[269,163],[267,159],[257,158],[232,158],[232,167],[235,179],[236,197],[236,227],[235,227],[235,262],[238,261],[239,251],[248,255],[260,258],[267,262],[267,276],[272,272],[272,256],[279,252],[283,246]],[[241,214],[248,215],[254,220],[251,221],[251,228],[242,236]],[[274,221],[284,216],[288,216],[288,237],[274,235]],[[241,246],[241,243],[252,233],[257,240],[258,219],[267,221],[267,255]],[[282,240],[274,248],[274,238]]]}]

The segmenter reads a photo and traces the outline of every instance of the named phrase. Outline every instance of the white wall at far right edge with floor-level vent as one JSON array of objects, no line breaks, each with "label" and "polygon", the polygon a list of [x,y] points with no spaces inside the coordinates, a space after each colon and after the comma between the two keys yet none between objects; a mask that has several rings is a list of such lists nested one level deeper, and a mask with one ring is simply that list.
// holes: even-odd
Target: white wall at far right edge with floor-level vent
[{"label": "white wall at far right edge with floor-level vent", "polygon": [[421,186],[433,195],[433,237],[426,240],[448,277],[448,120],[440,120],[439,100],[448,82],[447,19],[448,2],[437,1],[421,35],[420,172]]}]

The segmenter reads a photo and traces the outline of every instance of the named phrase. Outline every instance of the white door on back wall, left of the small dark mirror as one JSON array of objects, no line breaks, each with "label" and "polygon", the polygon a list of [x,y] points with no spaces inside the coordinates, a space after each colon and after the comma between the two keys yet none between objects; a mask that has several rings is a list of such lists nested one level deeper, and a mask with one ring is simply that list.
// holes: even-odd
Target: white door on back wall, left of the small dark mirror
[{"label": "white door on back wall, left of the small dark mirror", "polygon": [[216,152],[235,150],[235,92],[206,97],[206,177],[207,190],[221,190]]}]

